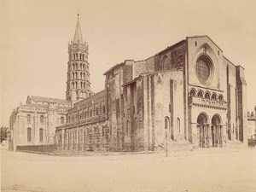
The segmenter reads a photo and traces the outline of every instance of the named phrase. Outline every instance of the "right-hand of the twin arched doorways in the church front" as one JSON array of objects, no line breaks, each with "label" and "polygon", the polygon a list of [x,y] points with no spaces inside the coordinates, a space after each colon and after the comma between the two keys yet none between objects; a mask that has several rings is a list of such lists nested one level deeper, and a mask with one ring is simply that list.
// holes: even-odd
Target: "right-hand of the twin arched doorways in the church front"
[{"label": "right-hand of the twin arched doorways in the church front", "polygon": [[218,114],[212,117],[212,147],[223,147],[223,126]]}]

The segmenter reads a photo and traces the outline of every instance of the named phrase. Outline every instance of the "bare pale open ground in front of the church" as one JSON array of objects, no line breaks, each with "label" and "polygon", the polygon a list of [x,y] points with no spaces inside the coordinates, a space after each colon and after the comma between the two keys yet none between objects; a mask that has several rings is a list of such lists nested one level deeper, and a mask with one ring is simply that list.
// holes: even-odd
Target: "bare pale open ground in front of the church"
[{"label": "bare pale open ground in front of the church", "polygon": [[1,189],[30,192],[256,191],[256,148],[49,156],[1,150]]}]

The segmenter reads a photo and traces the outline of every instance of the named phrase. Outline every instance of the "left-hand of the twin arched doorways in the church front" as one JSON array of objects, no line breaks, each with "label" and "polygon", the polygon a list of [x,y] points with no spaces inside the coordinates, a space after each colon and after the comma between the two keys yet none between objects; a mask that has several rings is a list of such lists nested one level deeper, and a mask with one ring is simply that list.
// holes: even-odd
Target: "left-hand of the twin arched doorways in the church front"
[{"label": "left-hand of the twin arched doorways in the church front", "polygon": [[209,147],[209,125],[206,113],[201,113],[197,117],[197,132],[199,135],[199,146],[201,148]]}]

